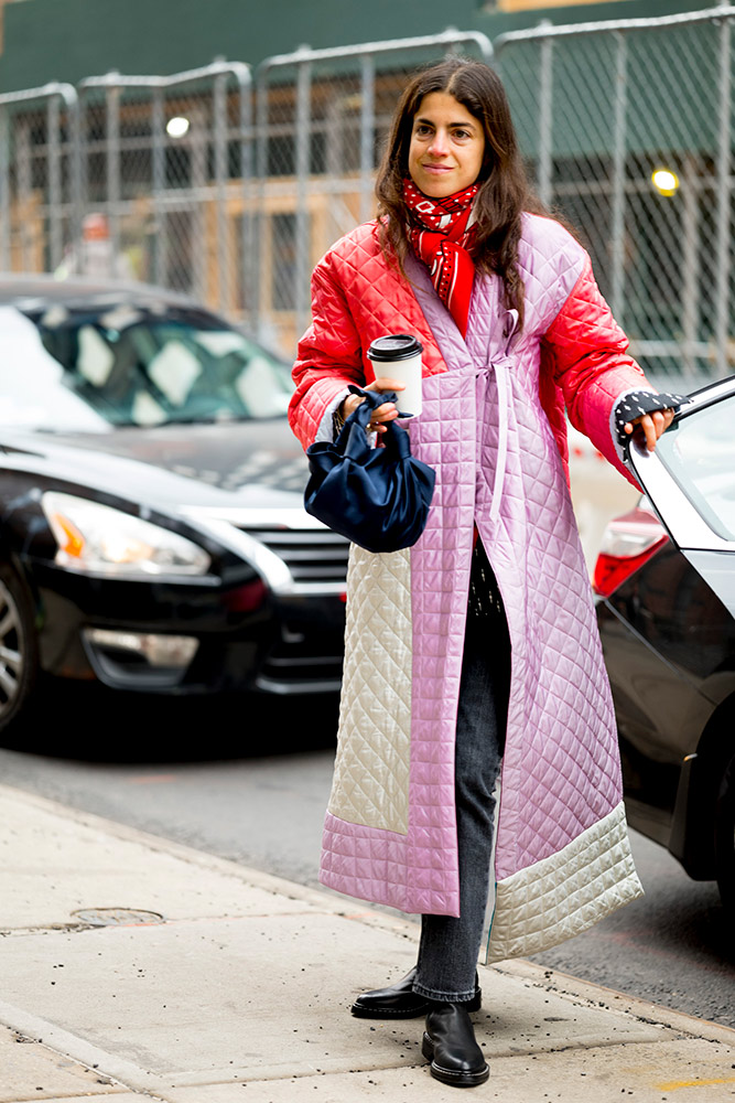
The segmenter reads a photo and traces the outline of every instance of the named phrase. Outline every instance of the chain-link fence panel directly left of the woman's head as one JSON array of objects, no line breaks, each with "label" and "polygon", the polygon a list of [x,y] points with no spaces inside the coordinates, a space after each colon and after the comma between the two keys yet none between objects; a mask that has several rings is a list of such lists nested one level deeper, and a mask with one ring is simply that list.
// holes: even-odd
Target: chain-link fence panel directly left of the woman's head
[{"label": "chain-link fence panel directly left of the woman's head", "polygon": [[293,347],[309,322],[310,272],[374,214],[372,184],[396,101],[418,65],[462,51],[489,62],[482,34],[300,50],[257,74],[258,322]]}]

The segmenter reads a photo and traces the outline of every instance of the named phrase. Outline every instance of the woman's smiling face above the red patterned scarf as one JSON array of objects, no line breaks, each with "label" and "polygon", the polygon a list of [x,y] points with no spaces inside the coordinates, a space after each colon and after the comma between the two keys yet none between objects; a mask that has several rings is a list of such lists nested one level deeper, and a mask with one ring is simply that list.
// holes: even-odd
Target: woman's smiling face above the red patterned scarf
[{"label": "woman's smiling face above the red patterned scarf", "polygon": [[420,192],[439,200],[469,188],[484,152],[483,126],[466,107],[447,92],[423,97],[409,146],[409,175]]}]

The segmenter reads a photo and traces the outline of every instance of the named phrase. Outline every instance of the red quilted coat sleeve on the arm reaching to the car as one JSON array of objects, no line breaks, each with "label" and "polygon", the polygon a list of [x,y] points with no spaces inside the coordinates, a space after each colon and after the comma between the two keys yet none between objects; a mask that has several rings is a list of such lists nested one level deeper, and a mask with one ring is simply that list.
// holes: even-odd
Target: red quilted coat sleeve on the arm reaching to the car
[{"label": "red quilted coat sleeve on the arm reaching to the car", "polygon": [[[627,390],[653,389],[628,353],[628,340],[613,318],[585,254],[582,272],[541,342],[542,399],[561,390],[570,421],[626,479],[612,429],[613,408]],[[549,405],[551,405],[549,403]]]}]

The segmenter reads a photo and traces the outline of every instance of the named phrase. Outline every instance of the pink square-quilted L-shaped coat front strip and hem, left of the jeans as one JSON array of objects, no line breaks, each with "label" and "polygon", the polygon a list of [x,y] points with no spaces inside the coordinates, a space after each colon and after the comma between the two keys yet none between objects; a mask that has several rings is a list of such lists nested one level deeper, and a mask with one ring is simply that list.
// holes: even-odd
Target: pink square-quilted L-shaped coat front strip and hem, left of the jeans
[{"label": "pink square-quilted L-shaped coat front strip and hem, left of the jeans", "polygon": [[[460,409],[448,430],[441,428],[441,410],[447,404]],[[401,838],[370,831],[327,813],[323,838],[323,884],[408,912],[458,914],[454,729],[475,495],[475,442],[462,426],[474,419],[472,375],[451,372],[424,381],[423,413],[409,431],[415,454],[436,465],[437,479],[426,528],[410,553],[414,688],[408,834]],[[457,511],[465,524],[447,527],[447,513],[456,516]],[[392,639],[387,636],[383,646]],[[348,634],[348,651],[352,644]],[[381,679],[379,671],[365,667],[363,676],[369,684]],[[341,728],[353,709],[359,724],[359,703],[346,693],[343,703]],[[382,740],[374,749],[386,757],[391,753]]]}]

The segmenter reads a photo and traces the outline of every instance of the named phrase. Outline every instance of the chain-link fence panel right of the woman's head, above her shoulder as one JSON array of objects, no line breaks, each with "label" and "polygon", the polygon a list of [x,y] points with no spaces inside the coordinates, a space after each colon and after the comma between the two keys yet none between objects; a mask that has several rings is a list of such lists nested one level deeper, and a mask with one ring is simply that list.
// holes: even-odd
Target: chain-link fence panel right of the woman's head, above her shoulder
[{"label": "chain-link fence panel right of the woman's head, above her shoulder", "polygon": [[539,196],[581,234],[649,374],[692,384],[735,361],[733,18],[542,24],[495,42]]}]

